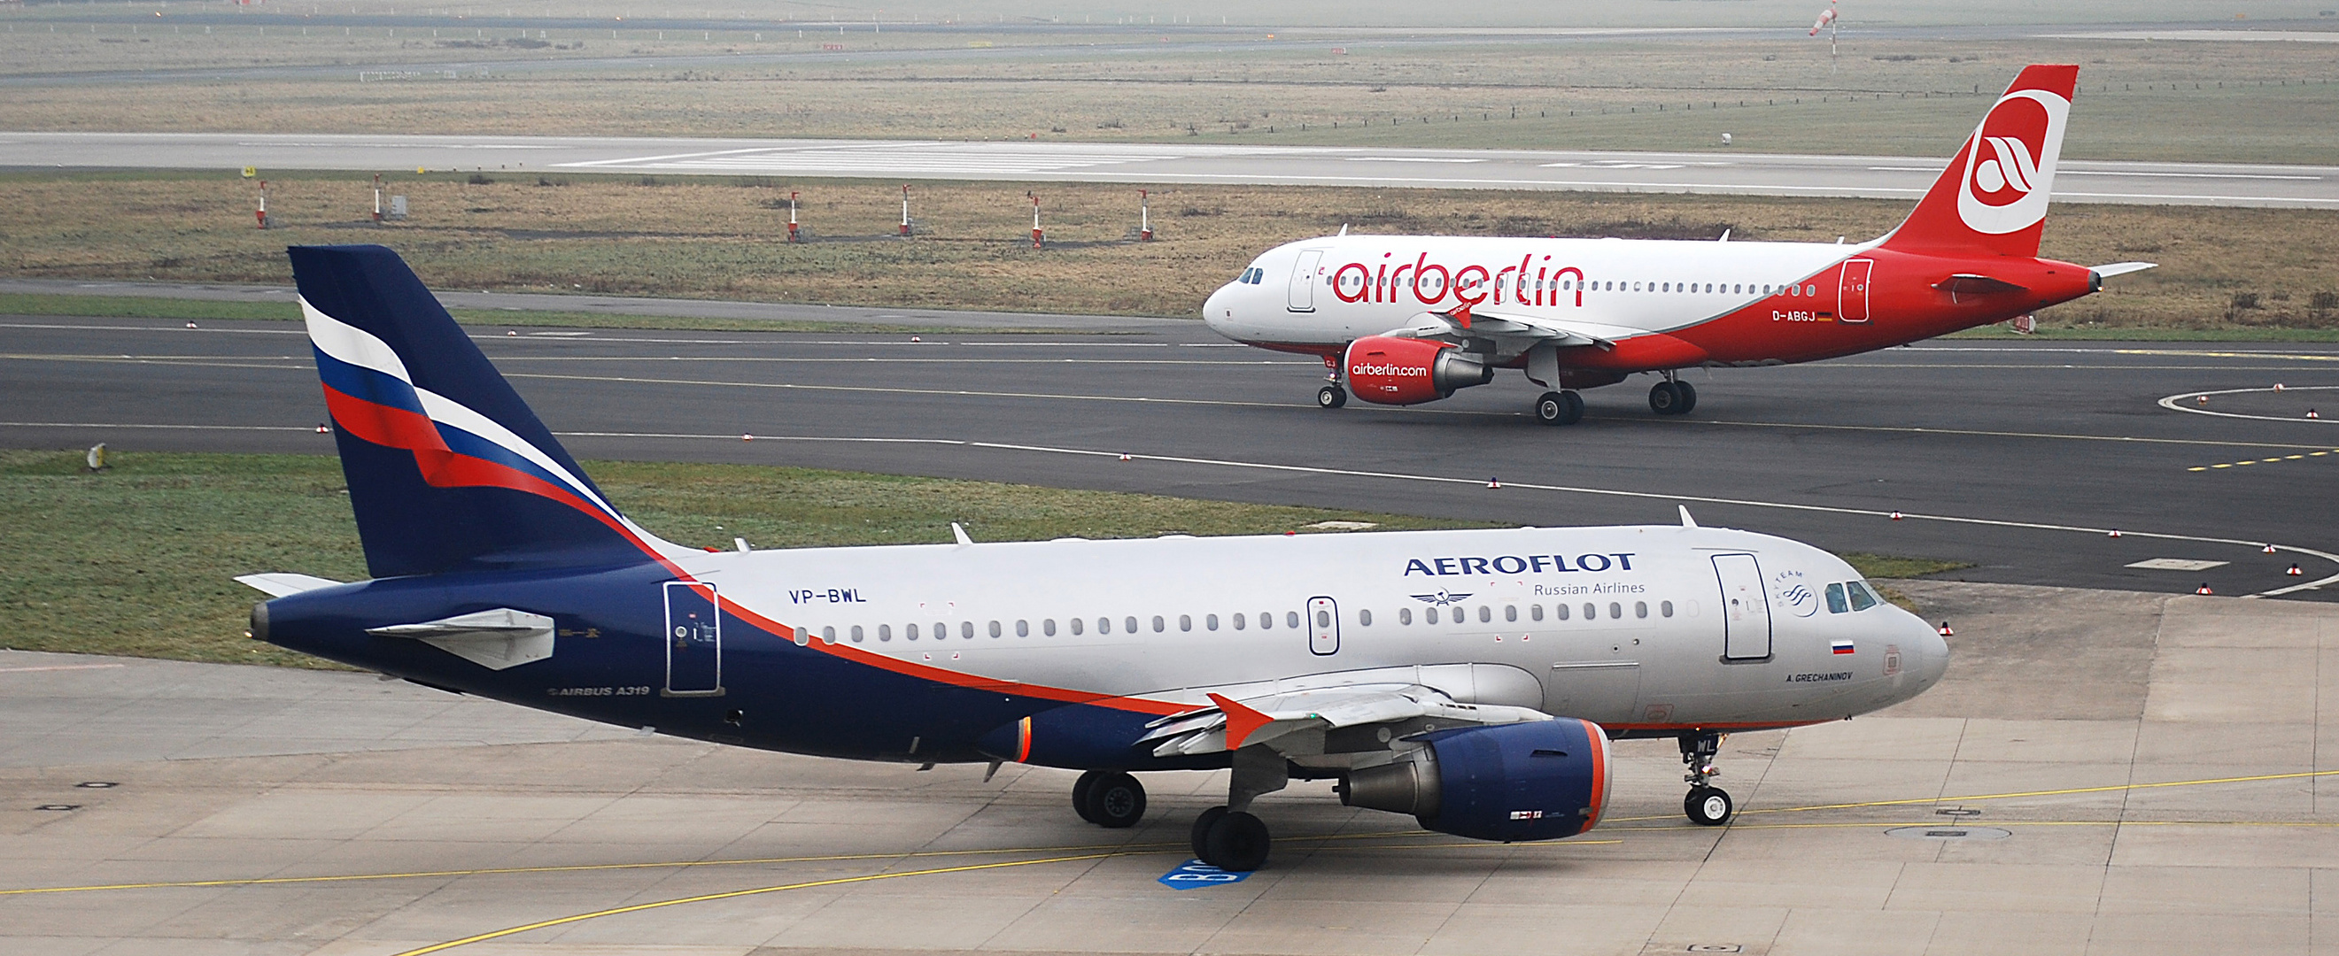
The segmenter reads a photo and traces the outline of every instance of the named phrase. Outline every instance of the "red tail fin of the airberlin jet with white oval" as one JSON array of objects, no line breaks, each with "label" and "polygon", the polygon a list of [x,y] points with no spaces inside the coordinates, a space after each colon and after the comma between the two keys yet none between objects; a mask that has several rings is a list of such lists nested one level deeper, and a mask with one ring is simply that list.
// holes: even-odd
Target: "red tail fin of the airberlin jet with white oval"
[{"label": "red tail fin of the airberlin jet with white oval", "polygon": [[2035,257],[2077,84],[2077,65],[2023,68],[1883,245]]}]

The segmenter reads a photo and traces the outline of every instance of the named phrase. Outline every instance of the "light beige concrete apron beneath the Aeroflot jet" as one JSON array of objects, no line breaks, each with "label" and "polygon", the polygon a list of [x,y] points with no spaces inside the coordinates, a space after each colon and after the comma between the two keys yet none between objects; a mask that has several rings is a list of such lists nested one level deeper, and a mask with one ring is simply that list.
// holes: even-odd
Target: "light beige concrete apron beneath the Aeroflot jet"
[{"label": "light beige concrete apron beneath the Aeroflot jet", "polygon": [[[2339,612],[1909,584],[1932,692],[1733,734],[1729,827],[1670,741],[1609,811],[1478,844],[1296,781],[1242,881],[1165,881],[1226,774],[861,764],[641,736],[365,673],[0,652],[0,949],[63,954],[2318,954]],[[2339,699],[2339,697],[2334,697]],[[1193,886],[1193,888],[1174,888]]]}]

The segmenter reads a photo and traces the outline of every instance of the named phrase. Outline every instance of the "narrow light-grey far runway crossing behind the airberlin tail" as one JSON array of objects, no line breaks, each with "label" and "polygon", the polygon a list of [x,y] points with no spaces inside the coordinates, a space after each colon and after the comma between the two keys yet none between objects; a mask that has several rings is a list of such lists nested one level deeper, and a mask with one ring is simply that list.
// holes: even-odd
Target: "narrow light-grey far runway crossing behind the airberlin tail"
[{"label": "narrow light-grey far runway crossing behind the airberlin tail", "polygon": [[[552,171],[1916,199],[1937,159],[585,136],[0,133],[0,168]],[[2339,166],[2063,161],[2054,199],[2339,208]]]}]

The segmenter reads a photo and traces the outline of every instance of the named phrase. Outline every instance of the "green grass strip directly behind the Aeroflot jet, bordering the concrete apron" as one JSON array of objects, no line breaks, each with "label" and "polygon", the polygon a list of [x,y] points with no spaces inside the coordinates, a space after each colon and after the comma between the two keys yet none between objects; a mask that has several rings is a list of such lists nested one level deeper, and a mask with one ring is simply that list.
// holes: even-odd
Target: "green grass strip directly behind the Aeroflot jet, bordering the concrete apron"
[{"label": "green grass strip directly behind the Aeroflot jet, bordering the concrete apron", "polygon": [[[292,570],[363,580],[341,465],[327,456],[0,451],[0,645],[227,664],[334,666],[243,638],[257,591],[234,575]],[[1315,533],[1317,521],[1387,531],[1469,521],[1024,484],[758,465],[587,463],[594,482],[657,535],[695,547]],[[1962,568],[1848,556],[1871,577]]]}]

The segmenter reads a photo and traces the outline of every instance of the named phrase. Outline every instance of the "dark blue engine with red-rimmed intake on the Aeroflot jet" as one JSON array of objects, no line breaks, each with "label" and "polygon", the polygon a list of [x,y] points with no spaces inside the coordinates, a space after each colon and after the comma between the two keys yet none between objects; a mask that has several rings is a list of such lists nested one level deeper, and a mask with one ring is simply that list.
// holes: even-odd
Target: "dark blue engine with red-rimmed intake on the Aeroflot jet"
[{"label": "dark blue engine with red-rimmed intake on the Aeroflot jet", "polygon": [[1417,741],[1420,750],[1392,764],[1350,771],[1340,802],[1506,844],[1574,837],[1607,806],[1607,734],[1591,720],[1457,727]]}]

